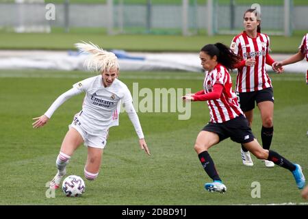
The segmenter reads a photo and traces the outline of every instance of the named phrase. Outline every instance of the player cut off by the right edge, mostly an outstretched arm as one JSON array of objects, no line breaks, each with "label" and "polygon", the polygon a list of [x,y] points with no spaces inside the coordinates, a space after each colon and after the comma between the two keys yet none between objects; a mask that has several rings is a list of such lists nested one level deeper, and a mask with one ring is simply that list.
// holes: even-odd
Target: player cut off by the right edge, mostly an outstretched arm
[{"label": "player cut off by the right edge, mostly an outstretched arm", "polygon": [[[308,62],[308,34],[303,37],[300,46],[298,47],[298,53],[288,57],[286,60],[280,62],[274,62],[273,66],[275,69],[281,68],[282,66],[286,66],[287,64],[293,64],[295,62],[299,62],[306,57]],[[308,84],[308,69],[306,72],[306,83]]]}]

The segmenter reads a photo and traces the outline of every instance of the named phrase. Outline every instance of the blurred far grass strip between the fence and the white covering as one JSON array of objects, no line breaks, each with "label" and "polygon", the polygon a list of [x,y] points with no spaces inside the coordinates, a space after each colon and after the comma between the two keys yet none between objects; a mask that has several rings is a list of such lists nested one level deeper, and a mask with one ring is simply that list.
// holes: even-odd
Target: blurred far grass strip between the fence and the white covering
[{"label": "blurred far grass strip between the fence and the white covering", "polygon": [[[97,31],[97,29],[92,29]],[[241,31],[239,31],[240,33]],[[300,31],[292,37],[270,36],[272,53],[296,53],[305,32]],[[126,51],[152,52],[196,52],[205,44],[222,42],[231,43],[234,36],[162,36],[162,35],[116,35],[107,36],[102,32],[75,29],[70,33],[55,32],[51,34],[14,34],[0,31],[0,49],[73,49],[76,42],[91,41],[103,49],[123,49]],[[185,43],[183,43],[185,42]]]}]

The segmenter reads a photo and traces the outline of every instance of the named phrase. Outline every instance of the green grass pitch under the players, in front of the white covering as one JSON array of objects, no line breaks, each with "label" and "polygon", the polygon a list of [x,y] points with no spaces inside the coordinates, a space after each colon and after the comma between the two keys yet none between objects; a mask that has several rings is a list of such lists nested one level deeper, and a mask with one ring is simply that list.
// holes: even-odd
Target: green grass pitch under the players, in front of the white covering
[{"label": "green grass pitch under the players, in front of the white covering", "polygon": [[[32,120],[73,83],[91,73],[43,70],[0,71],[0,205],[250,205],[304,203],[291,172],[275,166],[268,169],[253,157],[255,166],[242,165],[240,144],[224,140],[209,150],[225,194],[209,193],[205,175],[193,146],[198,131],[209,120],[206,103],[192,103],[189,120],[177,113],[138,113],[148,157],[125,113],[120,126],[110,130],[99,177],[86,182],[80,198],[67,198],[61,190],[47,198],[45,184],[55,175],[55,158],[73,115],[81,109],[84,95],[64,103],[41,129]],[[303,167],[307,160],[307,85],[303,74],[270,74],[274,86],[274,138],[272,149]],[[132,90],[140,88],[202,89],[202,73],[123,72],[120,79]],[[233,75],[234,81],[234,75]],[[178,96],[180,99],[180,96]],[[142,99],[142,97],[140,97]],[[180,100],[178,100],[180,101]],[[260,141],[260,118],[255,110],[253,132]],[[86,148],[80,146],[68,164],[68,175],[84,178]],[[252,198],[251,184],[261,185],[261,197]]]}]

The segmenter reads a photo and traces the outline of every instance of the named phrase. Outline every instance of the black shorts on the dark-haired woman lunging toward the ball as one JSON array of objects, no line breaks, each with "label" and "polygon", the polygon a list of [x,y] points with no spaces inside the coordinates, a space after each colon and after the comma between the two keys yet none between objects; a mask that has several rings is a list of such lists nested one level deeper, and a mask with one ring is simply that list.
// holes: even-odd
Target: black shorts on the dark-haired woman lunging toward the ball
[{"label": "black shorts on the dark-haired woman lunging toward the ball", "polygon": [[233,142],[248,143],[255,139],[251,128],[248,126],[248,120],[240,115],[224,123],[207,123],[202,129],[218,134],[219,141],[231,138]]}]

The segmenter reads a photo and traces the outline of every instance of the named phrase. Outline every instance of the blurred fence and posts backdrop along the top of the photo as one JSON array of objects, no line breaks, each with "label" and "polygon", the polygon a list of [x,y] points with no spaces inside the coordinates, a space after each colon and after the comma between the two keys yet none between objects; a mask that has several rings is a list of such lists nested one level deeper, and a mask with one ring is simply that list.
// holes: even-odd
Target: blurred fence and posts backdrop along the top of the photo
[{"label": "blurred fence and posts backdrop along the top of the photo", "polygon": [[[261,6],[268,34],[291,36],[308,28],[305,0],[1,0],[1,29],[51,32],[57,28],[105,29],[107,34],[238,33],[242,14]],[[52,3],[53,5],[49,5]],[[55,9],[55,16],[47,10]],[[49,19],[48,19],[49,17]],[[48,20],[47,20],[48,19]],[[102,30],[101,30],[102,31]]]}]

